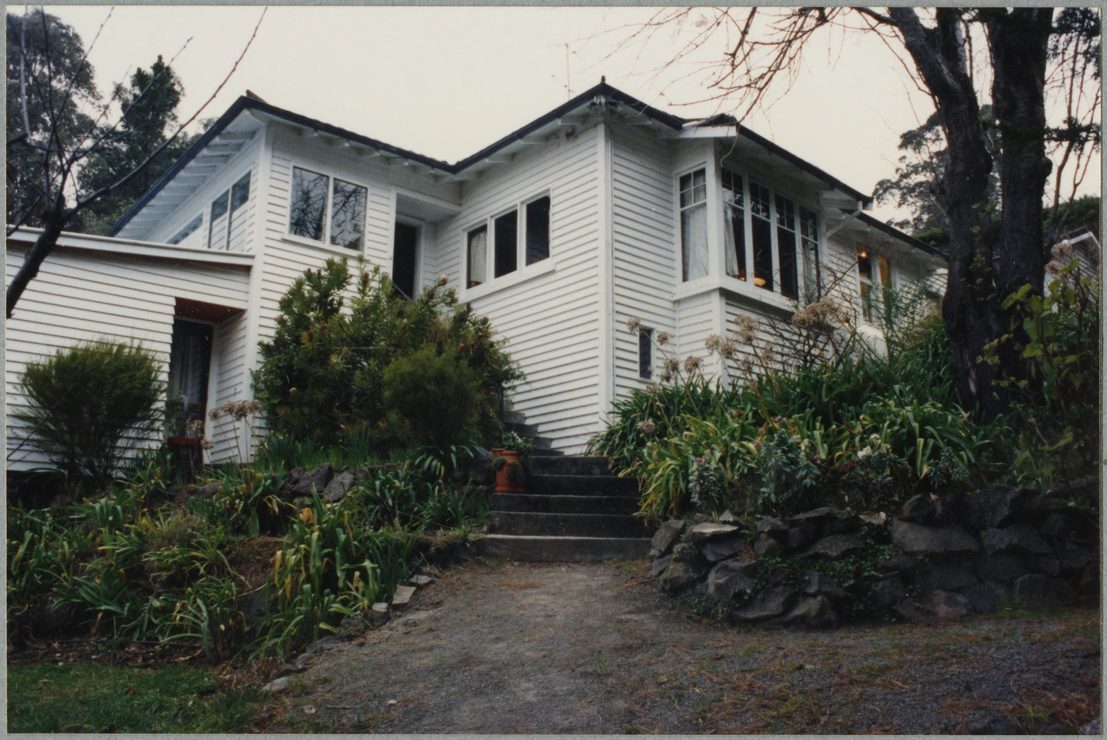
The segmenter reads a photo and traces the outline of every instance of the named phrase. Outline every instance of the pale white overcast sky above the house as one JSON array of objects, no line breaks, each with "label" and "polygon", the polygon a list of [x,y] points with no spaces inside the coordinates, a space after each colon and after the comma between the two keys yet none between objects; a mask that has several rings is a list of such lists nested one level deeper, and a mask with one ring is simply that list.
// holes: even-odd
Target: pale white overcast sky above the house
[{"label": "pale white overcast sky above the house", "polygon": [[[9,12],[21,12],[10,8]],[[101,92],[162,54],[185,85],[187,118],[241,53],[260,7],[116,7],[90,55]],[[54,6],[87,45],[107,7]],[[550,111],[572,92],[609,84],[676,115],[710,115],[696,81],[650,71],[664,42],[613,55],[649,8],[272,7],[238,71],[205,111],[220,115],[247,88],[269,103],[427,156],[455,161]],[[720,39],[722,43],[722,39]],[[828,48],[832,46],[832,48]],[[635,60],[639,51],[643,51]],[[706,53],[714,54],[716,50]],[[866,33],[808,50],[792,91],[744,123],[863,192],[893,175],[899,134],[932,112],[930,100],[879,40]],[[701,79],[702,80],[702,79]],[[670,84],[665,84],[669,82]],[[664,90],[665,96],[661,91]],[[723,107],[727,111],[730,108]],[[1098,191],[1098,161],[1088,173]],[[877,208],[880,219],[897,213]]]}]

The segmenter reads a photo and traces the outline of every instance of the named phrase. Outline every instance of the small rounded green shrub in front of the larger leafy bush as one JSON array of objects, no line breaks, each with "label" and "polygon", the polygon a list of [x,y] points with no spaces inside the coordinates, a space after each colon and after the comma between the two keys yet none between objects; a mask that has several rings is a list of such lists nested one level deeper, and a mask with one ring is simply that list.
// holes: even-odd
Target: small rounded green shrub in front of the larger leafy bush
[{"label": "small rounded green shrub in front of the larger leafy bush", "polygon": [[468,439],[477,413],[476,373],[453,347],[424,346],[384,369],[384,404],[412,442],[436,447]]}]

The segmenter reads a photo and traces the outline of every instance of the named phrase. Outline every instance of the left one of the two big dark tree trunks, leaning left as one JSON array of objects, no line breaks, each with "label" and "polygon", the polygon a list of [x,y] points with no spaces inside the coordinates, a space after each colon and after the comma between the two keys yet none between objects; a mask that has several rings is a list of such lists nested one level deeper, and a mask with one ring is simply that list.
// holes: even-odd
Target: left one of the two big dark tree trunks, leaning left
[{"label": "left one of the two big dark tree trunks, leaning left", "polygon": [[983,359],[984,347],[1006,326],[996,311],[992,261],[995,233],[987,207],[992,156],[969,74],[964,11],[937,9],[934,28],[923,27],[909,8],[888,12],[934,97],[945,133],[950,160],[940,187],[950,221],[950,261],[942,321],[953,346],[962,402],[969,407],[979,404],[991,417],[1006,407],[1006,399],[999,393],[992,365]]}]

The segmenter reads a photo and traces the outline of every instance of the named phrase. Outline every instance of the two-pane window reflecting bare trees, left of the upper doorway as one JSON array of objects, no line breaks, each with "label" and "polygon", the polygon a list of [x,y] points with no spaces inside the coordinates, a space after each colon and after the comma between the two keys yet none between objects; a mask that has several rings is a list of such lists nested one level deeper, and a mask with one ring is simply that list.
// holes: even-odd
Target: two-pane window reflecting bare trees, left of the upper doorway
[{"label": "two-pane window reflecting bare trees, left of the upper doorway", "polygon": [[360,252],[365,244],[368,198],[369,190],[361,185],[293,167],[288,232]]}]

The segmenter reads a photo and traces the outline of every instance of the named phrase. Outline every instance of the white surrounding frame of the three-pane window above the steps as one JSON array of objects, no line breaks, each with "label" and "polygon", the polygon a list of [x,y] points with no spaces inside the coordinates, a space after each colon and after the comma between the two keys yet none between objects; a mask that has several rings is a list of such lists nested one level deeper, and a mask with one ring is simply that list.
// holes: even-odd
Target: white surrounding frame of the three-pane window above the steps
[{"label": "white surrounding frame of the three-pane window above the steps", "polygon": [[[541,198],[550,199],[550,217],[549,217],[549,236],[548,236],[548,256],[545,259],[538,260],[534,264],[527,264],[527,206]],[[516,229],[516,240],[515,240],[515,270],[505,273],[503,275],[496,277],[496,219],[506,216],[515,211],[515,229]],[[483,220],[467,221],[466,226],[461,228],[461,264],[462,264],[462,277],[461,277],[461,290],[458,291],[462,300],[473,300],[482,298],[489,293],[494,293],[510,285],[515,285],[525,280],[530,280],[547,272],[551,272],[555,269],[554,264],[554,197],[551,191],[547,188],[545,190],[539,190],[526,198],[517,200],[508,206],[505,206],[498,210],[493,211],[490,215],[486,216]],[[485,227],[487,229],[487,246],[485,254],[485,277],[479,285],[468,286],[468,269],[469,269],[469,232]]]}]

